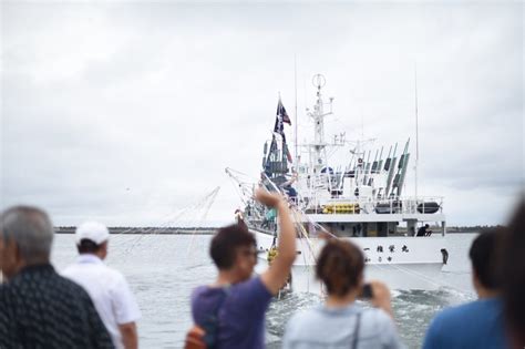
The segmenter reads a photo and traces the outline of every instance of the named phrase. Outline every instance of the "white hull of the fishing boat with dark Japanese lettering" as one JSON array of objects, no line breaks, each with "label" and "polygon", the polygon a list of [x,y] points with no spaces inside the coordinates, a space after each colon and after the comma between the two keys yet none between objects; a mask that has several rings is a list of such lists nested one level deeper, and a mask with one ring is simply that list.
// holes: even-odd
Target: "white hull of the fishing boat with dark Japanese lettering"
[{"label": "white hull of the fishing boat with dark Japanese lettering", "polygon": [[[257,237],[257,248],[268,250],[274,237],[251,230]],[[443,236],[430,237],[351,237],[366,256],[364,277],[379,279],[391,289],[435,289],[435,278],[444,265]],[[315,278],[316,257],[325,244],[320,238],[297,239],[297,258],[292,268],[292,290],[322,294]],[[392,248],[393,246],[393,248]],[[382,247],[382,248],[379,248]],[[404,248],[405,247],[405,248]],[[267,266],[267,254],[259,255],[259,268]]]}]

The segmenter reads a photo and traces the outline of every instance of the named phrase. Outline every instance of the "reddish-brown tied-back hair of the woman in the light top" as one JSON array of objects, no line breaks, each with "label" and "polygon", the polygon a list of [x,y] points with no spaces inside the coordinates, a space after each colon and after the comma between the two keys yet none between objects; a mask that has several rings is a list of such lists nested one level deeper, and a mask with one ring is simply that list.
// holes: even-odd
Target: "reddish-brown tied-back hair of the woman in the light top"
[{"label": "reddish-brown tied-back hair of the woman in the light top", "polygon": [[330,239],[319,255],[317,277],[327,286],[328,294],[344,296],[356,288],[364,269],[364,257],[354,244]]}]

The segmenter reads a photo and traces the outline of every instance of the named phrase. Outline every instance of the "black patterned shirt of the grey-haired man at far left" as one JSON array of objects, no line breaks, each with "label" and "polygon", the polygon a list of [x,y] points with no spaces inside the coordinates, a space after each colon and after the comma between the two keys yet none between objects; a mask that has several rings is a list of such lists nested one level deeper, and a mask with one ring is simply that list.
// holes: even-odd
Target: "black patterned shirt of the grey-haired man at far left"
[{"label": "black patterned shirt of the grey-haired man at far left", "polygon": [[0,285],[0,348],[114,348],[90,296],[51,265]]}]

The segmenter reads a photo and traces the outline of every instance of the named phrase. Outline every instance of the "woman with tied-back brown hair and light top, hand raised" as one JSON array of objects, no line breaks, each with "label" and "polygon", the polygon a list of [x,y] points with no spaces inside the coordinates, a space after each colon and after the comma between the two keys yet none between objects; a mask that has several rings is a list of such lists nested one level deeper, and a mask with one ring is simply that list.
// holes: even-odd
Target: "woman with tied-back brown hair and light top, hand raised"
[{"label": "woman with tied-back brown hair and light top, hand raised", "polygon": [[[282,348],[403,348],[392,320],[389,289],[379,281],[363,284],[363,269],[359,247],[328,240],[316,266],[328,297],[322,306],[290,319]],[[359,297],[370,298],[373,308],[357,305]]]}]

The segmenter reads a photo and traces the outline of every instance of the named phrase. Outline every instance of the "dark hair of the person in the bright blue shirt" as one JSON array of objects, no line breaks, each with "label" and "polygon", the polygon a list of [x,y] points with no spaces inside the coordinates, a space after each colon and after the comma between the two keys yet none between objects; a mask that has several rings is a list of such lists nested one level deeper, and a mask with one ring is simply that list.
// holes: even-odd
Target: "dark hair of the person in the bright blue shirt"
[{"label": "dark hair of the person in the bright blue shirt", "polygon": [[488,229],[481,233],[472,243],[469,257],[472,261],[472,268],[483,287],[488,289],[498,289],[501,287],[501,277],[497,273],[500,266],[500,248],[502,242],[503,228]]}]

